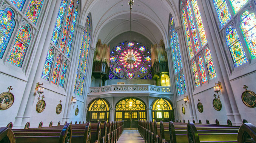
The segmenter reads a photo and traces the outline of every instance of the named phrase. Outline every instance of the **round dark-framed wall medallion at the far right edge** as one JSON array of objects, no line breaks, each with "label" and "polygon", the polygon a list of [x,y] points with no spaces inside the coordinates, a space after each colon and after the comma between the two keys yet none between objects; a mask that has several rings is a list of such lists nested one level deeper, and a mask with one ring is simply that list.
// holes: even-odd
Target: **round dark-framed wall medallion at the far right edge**
[{"label": "round dark-framed wall medallion at the far right edge", "polygon": [[248,107],[253,108],[256,106],[256,94],[254,92],[252,92],[251,90],[245,90],[242,93],[242,101]]}]

